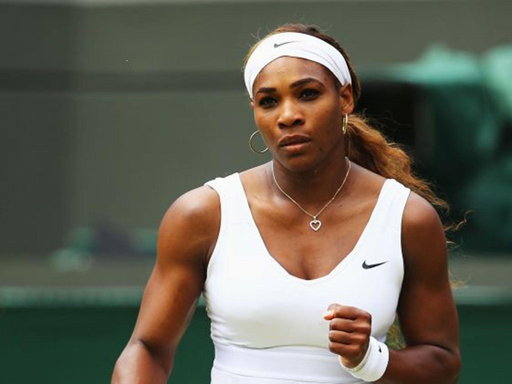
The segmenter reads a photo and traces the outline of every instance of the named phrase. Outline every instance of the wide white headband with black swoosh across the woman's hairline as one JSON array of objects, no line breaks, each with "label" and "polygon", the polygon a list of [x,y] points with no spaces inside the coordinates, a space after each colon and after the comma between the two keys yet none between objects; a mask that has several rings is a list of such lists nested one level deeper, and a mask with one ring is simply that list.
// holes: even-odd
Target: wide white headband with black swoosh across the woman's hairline
[{"label": "wide white headband with black swoosh across the woman's hairline", "polygon": [[281,56],[300,57],[322,64],[342,86],[352,84],[343,55],[328,42],[305,33],[282,32],[263,39],[249,56],[244,70],[245,87],[251,99],[252,86],[260,71]]}]

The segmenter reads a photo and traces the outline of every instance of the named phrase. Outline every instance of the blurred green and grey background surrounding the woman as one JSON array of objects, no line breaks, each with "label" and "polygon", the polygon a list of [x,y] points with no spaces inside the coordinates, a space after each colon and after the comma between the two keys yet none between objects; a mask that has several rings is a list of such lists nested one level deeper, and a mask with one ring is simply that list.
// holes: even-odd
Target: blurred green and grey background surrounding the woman
[{"label": "blurred green and grey background surrounding the woman", "polygon": [[[510,15],[496,0],[0,0],[0,381],[110,381],[165,209],[268,160],[247,147],[243,56],[303,22],[348,50],[359,111],[467,217],[450,261],[459,382],[508,382]],[[212,358],[200,302],[170,382],[207,383]]]}]

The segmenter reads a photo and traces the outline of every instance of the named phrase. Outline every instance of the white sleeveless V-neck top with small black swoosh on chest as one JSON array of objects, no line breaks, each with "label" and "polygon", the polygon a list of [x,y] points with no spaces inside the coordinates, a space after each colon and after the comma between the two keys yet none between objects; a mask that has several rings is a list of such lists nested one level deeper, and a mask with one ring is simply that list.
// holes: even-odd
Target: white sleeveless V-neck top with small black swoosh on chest
[{"label": "white sleeveless V-neck top with small black swoosh on chest", "polygon": [[322,314],[331,303],[363,309],[372,315],[372,336],[386,340],[403,279],[401,219],[410,189],[387,179],[352,251],[329,274],[304,280],[268,253],[238,173],[206,185],[221,204],[203,292],[215,346],[211,384],[362,382],[329,351]]}]

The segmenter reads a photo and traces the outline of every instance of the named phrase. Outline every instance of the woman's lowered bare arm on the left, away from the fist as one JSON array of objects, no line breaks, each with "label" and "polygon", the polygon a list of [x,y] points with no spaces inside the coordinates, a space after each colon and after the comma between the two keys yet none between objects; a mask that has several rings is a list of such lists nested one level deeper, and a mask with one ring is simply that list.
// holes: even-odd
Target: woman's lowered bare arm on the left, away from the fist
[{"label": "woman's lowered bare arm on the left, away from the fist", "polygon": [[166,383],[206,279],[220,226],[217,193],[202,186],[177,199],[158,230],[157,261],[112,384]]}]

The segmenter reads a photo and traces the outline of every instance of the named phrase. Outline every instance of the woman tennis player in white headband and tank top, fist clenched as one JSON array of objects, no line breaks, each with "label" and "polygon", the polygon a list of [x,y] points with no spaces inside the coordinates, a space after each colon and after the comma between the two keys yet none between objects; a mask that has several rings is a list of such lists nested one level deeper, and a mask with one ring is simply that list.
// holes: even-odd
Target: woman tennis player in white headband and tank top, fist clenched
[{"label": "woman tennis player in white headband and tank top, fist clenched", "polygon": [[[170,206],[112,382],[166,382],[203,293],[212,384],[455,383],[444,202],[353,114],[348,55],[314,27],[286,25],[251,49],[244,76],[250,144],[258,152],[261,134],[272,160]],[[406,346],[392,350],[396,314]]]}]

